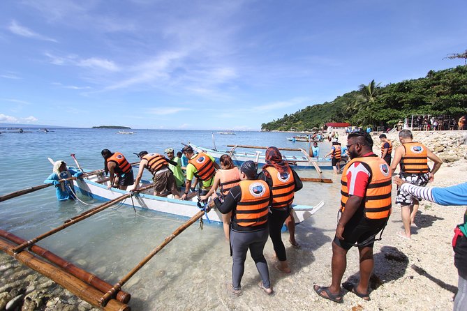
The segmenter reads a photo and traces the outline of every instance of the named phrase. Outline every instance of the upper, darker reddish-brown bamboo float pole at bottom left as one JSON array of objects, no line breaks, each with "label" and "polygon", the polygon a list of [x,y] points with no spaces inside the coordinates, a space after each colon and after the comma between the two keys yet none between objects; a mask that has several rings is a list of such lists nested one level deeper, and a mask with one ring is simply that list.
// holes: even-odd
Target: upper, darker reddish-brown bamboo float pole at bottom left
[{"label": "upper, darker reddish-brown bamboo float pole at bottom left", "polygon": [[[6,238],[7,240],[12,241],[13,243],[16,243],[18,245],[26,241],[24,240],[24,238],[20,238],[19,236],[15,236],[15,234],[6,232],[1,229],[0,229],[0,237]],[[96,287],[96,289],[102,291],[103,293],[105,293],[106,291],[112,288],[112,285],[110,285],[108,282],[105,282],[104,280],[101,280],[100,278],[98,278],[96,275],[91,274],[87,271],[84,271],[82,268],[77,267],[74,264],[71,264],[65,259],[55,255],[53,252],[50,252],[50,250],[41,248],[38,245],[33,245],[30,251],[34,252],[36,255],[39,255],[40,257],[47,259],[48,261],[52,262],[52,264],[59,266],[60,268],[64,269],[64,271],[66,271],[67,273],[70,273],[76,278],[79,278],[83,282],[86,282],[87,284]],[[130,298],[131,298],[131,295],[124,291],[119,291],[117,293],[117,301],[120,301],[121,303],[128,303],[128,301],[130,301]]]}]

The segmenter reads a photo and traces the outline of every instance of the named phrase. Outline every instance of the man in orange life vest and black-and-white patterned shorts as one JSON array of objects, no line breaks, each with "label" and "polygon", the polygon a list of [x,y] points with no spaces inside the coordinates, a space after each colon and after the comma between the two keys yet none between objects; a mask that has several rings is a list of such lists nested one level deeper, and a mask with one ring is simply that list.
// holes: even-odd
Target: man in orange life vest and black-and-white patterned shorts
[{"label": "man in orange life vest and black-and-white patterned shorts", "polygon": [[[391,172],[394,172],[397,165],[400,164],[399,177],[403,181],[422,187],[427,185],[429,181],[433,181],[435,173],[438,172],[443,161],[434,155],[424,144],[413,142],[413,135],[410,130],[401,130],[399,132],[399,141],[402,146],[397,147],[394,153]],[[431,169],[428,167],[428,159],[434,162]],[[397,235],[402,238],[410,238],[410,227],[417,227],[415,225],[415,215],[418,211],[418,198],[399,189],[397,191],[396,204],[401,206],[401,218],[404,229],[403,232],[397,232]]]}]

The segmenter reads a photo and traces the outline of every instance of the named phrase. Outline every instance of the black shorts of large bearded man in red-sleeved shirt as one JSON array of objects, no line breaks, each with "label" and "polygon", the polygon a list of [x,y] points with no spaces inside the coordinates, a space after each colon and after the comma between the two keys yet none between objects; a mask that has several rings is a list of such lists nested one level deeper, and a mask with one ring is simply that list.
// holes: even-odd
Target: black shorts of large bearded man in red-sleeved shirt
[{"label": "black shorts of large bearded man in red-sleeved shirt", "polygon": [[334,236],[334,243],[344,250],[356,246],[355,242],[358,246],[373,248],[375,241],[371,236],[376,236],[385,227],[387,220],[388,218],[368,219],[362,213],[355,213],[343,229],[343,240]]}]

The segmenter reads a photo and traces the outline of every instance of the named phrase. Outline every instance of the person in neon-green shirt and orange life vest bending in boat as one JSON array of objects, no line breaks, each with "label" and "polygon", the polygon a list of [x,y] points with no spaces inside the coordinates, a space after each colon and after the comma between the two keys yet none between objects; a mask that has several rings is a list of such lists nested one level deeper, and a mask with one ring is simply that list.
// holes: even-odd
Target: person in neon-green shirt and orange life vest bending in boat
[{"label": "person in neon-green shirt and orange life vest bending in boat", "polygon": [[181,152],[188,158],[188,165],[186,165],[185,192],[180,199],[186,199],[193,176],[202,181],[200,195],[206,195],[214,183],[214,173],[220,168],[219,165],[211,155],[202,152],[195,154],[191,146],[184,146]]}]

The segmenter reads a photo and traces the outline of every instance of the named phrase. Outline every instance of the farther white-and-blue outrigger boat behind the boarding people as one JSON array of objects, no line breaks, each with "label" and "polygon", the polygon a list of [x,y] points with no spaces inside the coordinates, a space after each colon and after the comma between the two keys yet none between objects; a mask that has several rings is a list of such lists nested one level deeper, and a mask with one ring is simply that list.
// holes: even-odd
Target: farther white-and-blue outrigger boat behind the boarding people
[{"label": "farther white-and-blue outrigger boat behind the boarding people", "polygon": [[[240,166],[243,162],[252,160],[258,163],[258,167],[262,167],[266,164],[265,160],[265,152],[264,151],[237,151],[235,146],[231,150],[227,151],[217,151],[214,149],[209,149],[201,146],[197,146],[195,144],[188,144],[193,148],[196,152],[204,152],[211,155],[213,158],[218,160],[221,158],[221,155],[228,154],[235,165]],[[252,146],[253,147],[253,146]],[[238,148],[243,148],[242,146],[238,146]],[[320,169],[332,169],[331,160],[330,159],[323,159],[323,158],[311,158],[307,155],[304,149],[285,149],[286,151],[295,151],[297,155],[286,155],[282,154],[284,160],[288,160],[288,163],[292,169],[316,169],[315,165],[318,165]],[[298,152],[302,154],[299,155]]]}]

